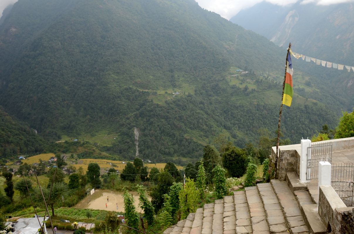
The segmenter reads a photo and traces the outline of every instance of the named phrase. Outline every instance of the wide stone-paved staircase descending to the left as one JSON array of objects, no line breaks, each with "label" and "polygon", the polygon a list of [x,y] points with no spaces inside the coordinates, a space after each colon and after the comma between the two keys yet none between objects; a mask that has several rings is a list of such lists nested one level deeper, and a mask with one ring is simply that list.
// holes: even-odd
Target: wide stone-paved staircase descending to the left
[{"label": "wide stone-paved staircase descending to the left", "polygon": [[205,204],[186,220],[166,229],[164,234],[327,233],[322,222],[316,220],[318,214],[317,217],[315,213],[308,213],[308,208],[316,204],[306,187],[301,188],[292,186],[290,180],[288,183],[272,180],[246,187],[245,191],[236,191],[232,196]]}]

